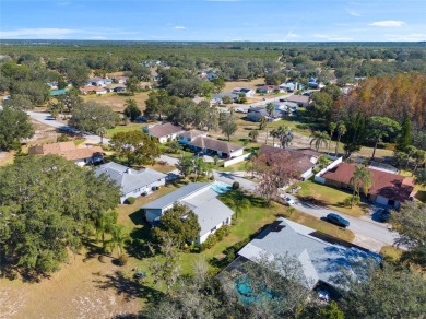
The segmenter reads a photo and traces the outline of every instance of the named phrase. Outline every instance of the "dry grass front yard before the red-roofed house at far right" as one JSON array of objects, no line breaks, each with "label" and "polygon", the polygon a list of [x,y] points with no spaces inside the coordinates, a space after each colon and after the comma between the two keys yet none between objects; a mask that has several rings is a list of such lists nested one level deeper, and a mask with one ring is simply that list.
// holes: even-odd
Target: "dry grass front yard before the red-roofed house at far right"
[{"label": "dry grass front yard before the red-roofed house at far right", "polygon": [[354,208],[346,208],[343,206],[342,202],[352,196],[350,192],[342,191],[340,189],[331,188],[321,184],[315,182],[312,179],[309,179],[307,181],[299,181],[297,182],[301,189],[297,192],[298,197],[313,197],[316,200],[318,200],[321,204],[355,216],[360,217],[364,215],[364,210],[367,209],[366,205],[363,203],[360,206],[354,206]]}]

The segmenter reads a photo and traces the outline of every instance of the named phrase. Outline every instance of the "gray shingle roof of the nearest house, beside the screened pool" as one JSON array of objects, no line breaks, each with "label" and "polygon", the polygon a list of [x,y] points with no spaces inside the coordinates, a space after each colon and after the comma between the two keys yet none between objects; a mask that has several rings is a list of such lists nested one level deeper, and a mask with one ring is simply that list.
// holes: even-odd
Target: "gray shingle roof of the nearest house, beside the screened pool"
[{"label": "gray shingle roof of the nearest house, beside the screened pool", "polygon": [[267,256],[295,256],[303,265],[307,284],[313,287],[320,280],[335,286],[333,277],[341,268],[351,268],[359,259],[380,256],[356,247],[344,247],[313,237],[316,231],[295,222],[277,218],[270,227],[247,244],[238,255],[256,261],[261,252]]}]

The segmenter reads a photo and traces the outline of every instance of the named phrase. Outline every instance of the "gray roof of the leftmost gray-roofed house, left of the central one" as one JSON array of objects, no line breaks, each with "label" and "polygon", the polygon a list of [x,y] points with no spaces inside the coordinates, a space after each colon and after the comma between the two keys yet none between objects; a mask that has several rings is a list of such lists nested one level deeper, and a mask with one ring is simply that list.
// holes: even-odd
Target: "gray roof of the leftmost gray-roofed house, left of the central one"
[{"label": "gray roof of the leftmost gray-roofed house, left of the central one", "polygon": [[129,167],[114,162],[97,166],[96,175],[99,176],[100,174],[109,176],[125,194],[167,176],[151,168],[129,169]]}]

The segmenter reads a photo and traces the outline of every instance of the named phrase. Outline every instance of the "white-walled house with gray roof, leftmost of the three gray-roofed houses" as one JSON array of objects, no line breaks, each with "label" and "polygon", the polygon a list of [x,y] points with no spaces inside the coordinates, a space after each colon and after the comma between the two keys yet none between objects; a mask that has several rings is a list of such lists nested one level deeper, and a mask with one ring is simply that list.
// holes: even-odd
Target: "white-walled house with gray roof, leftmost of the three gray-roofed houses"
[{"label": "white-walled house with gray roof, leftmost of the three gray-roofed houses", "polygon": [[120,187],[121,204],[129,197],[145,196],[164,186],[167,176],[151,168],[137,170],[114,162],[97,166],[95,173],[97,176],[105,174]]}]

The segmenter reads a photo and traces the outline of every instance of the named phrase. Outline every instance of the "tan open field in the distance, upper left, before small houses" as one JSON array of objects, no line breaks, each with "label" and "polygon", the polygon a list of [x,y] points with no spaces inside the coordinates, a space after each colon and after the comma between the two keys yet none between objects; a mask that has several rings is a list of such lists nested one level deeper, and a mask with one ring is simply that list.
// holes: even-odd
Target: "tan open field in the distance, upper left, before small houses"
[{"label": "tan open field in the distance, upper left, before small houses", "polygon": [[134,99],[138,107],[143,110],[145,109],[145,101],[147,99],[147,92],[135,93],[132,95],[119,95],[117,93],[107,93],[103,95],[82,95],[85,102],[92,101],[109,106],[115,111],[122,113],[125,110],[126,99]]}]

